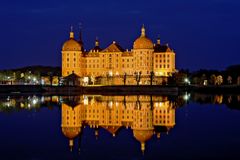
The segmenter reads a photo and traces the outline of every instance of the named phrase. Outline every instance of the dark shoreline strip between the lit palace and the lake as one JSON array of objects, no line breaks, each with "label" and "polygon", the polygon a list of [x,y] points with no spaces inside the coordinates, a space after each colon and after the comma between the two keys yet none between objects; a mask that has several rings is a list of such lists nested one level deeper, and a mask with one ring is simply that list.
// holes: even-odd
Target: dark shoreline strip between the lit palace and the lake
[{"label": "dark shoreline strip between the lit palace and the lake", "polygon": [[44,94],[44,95],[178,95],[182,92],[212,94],[239,93],[240,85],[221,86],[176,86],[176,85],[117,85],[117,86],[42,86],[42,85],[0,85],[0,94]]}]

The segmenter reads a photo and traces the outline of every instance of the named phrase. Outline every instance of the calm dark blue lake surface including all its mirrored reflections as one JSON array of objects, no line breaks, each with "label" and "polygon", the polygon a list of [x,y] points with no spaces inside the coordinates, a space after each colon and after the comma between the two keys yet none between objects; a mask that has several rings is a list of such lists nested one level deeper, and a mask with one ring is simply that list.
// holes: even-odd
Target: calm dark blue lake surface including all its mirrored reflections
[{"label": "calm dark blue lake surface including all its mirrored reflections", "polygon": [[240,159],[240,95],[0,96],[0,159]]}]

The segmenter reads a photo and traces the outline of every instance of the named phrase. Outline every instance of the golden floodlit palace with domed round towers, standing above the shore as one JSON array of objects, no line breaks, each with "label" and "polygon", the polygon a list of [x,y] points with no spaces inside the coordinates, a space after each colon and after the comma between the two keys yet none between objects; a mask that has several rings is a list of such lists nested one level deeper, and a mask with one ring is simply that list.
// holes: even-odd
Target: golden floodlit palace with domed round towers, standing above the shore
[{"label": "golden floodlit palace with domed round towers, standing above the shore", "polygon": [[90,77],[87,81],[95,81],[97,77],[112,77],[112,84],[121,84],[123,81],[119,79],[125,75],[128,77],[126,84],[133,84],[136,75],[140,75],[142,79],[139,84],[150,84],[150,77],[153,75],[154,83],[157,84],[164,80],[163,77],[171,76],[174,72],[176,72],[174,51],[168,44],[162,45],[160,39],[153,44],[147,37],[144,26],[130,51],[123,49],[115,41],[102,49],[98,39],[95,46],[86,51],[81,31],[79,40],[76,40],[72,30],[69,40],[62,47],[63,77],[72,73],[83,79]]}]

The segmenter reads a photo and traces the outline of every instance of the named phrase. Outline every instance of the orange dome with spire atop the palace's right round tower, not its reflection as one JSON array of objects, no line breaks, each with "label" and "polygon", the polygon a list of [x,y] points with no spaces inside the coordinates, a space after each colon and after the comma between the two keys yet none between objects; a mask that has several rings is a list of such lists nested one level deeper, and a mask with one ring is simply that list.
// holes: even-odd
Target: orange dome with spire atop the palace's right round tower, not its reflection
[{"label": "orange dome with spire atop the palace's right round tower, not its reflection", "polygon": [[141,36],[134,41],[133,49],[153,49],[153,42],[147,38],[144,26],[141,29]]}]

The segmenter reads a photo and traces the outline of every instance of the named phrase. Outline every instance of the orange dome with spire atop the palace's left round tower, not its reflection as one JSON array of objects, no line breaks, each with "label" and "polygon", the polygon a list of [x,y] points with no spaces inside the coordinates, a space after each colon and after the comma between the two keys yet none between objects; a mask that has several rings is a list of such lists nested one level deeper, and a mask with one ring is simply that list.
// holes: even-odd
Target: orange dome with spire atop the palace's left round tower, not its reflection
[{"label": "orange dome with spire atop the palace's left round tower, not its reflection", "polygon": [[74,33],[71,30],[70,39],[67,40],[62,47],[62,51],[81,51],[82,45],[74,39]]}]

